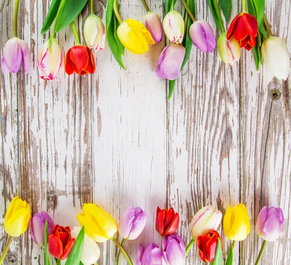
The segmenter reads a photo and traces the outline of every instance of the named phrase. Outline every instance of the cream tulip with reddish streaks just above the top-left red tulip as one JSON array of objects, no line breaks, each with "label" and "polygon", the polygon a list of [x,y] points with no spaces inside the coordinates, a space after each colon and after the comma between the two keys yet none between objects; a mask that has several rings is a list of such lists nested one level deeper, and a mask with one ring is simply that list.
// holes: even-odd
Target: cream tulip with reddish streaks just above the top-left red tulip
[{"label": "cream tulip with reddish streaks just above the top-left red tulip", "polygon": [[87,17],[84,23],[84,38],[90,49],[102,50],[105,46],[105,27],[96,15]]}]

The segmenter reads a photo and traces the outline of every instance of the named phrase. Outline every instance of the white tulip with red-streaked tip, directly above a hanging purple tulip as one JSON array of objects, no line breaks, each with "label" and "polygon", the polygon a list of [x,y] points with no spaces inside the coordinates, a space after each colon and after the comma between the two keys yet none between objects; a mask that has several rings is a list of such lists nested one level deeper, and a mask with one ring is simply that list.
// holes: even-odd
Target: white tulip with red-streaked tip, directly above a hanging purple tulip
[{"label": "white tulip with red-streaked tip, directly above a hanging purple tulip", "polygon": [[170,11],[162,22],[164,31],[168,39],[173,43],[182,43],[185,23],[181,14],[175,10]]}]

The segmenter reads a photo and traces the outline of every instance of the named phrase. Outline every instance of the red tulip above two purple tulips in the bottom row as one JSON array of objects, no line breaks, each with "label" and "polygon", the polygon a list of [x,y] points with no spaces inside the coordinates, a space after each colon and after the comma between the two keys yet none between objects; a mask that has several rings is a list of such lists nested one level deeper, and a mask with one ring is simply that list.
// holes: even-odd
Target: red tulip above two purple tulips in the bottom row
[{"label": "red tulip above two purple tulips in the bottom row", "polygon": [[175,233],[179,225],[179,215],[173,207],[170,210],[157,208],[156,230],[166,237]]}]

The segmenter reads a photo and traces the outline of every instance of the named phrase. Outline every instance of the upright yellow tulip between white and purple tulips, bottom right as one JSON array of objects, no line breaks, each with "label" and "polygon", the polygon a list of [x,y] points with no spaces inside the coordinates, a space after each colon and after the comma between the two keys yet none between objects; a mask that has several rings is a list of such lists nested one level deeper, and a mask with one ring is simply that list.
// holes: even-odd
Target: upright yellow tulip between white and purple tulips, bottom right
[{"label": "upright yellow tulip between white and purple tulips, bottom right", "polygon": [[223,219],[223,230],[230,240],[242,241],[251,231],[250,218],[243,203],[230,206]]}]

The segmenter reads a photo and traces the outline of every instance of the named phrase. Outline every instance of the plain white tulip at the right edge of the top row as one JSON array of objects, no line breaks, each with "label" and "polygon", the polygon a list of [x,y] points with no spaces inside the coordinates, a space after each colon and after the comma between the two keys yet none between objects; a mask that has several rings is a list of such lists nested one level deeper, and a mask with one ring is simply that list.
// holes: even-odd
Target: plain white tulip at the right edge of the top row
[{"label": "plain white tulip at the right edge of the top row", "polygon": [[270,36],[261,47],[264,63],[277,79],[287,80],[290,70],[290,54],[282,38]]}]

